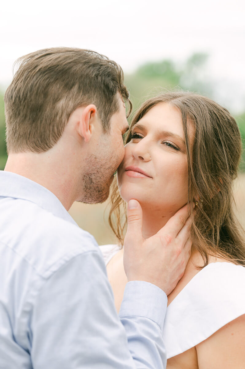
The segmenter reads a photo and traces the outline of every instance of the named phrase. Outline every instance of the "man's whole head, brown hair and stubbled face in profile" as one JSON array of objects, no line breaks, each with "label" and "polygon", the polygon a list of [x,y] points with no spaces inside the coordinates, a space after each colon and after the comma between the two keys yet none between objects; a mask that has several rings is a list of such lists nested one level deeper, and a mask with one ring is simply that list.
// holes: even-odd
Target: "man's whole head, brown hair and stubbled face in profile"
[{"label": "man's whole head, brown hair and stubbled face in profile", "polygon": [[122,69],[104,55],[77,48],[39,50],[17,62],[20,66],[4,96],[8,154],[56,155],[60,142],[68,151],[69,143],[74,144],[88,194],[76,200],[104,201],[124,153],[124,103],[129,93]]}]

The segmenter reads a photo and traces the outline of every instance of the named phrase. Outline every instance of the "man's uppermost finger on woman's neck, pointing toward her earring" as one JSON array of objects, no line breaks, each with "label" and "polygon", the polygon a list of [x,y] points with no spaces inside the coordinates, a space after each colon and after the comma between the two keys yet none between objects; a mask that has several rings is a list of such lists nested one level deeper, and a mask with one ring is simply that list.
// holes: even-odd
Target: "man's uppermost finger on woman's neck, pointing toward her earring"
[{"label": "man's uppermost finger on woman's neck, pointing toward her earring", "polygon": [[170,218],[167,223],[158,231],[158,234],[168,234],[172,237],[176,237],[179,231],[182,229],[187,218],[189,217],[188,205],[183,206]]}]

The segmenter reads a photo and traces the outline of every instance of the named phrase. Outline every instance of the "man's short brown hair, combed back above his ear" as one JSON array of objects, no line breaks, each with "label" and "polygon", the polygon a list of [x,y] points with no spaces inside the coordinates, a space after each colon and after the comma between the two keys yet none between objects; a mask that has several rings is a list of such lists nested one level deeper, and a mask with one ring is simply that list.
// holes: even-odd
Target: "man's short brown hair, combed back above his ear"
[{"label": "man's short brown hair, combed back above his ear", "polygon": [[78,48],[43,49],[22,56],[5,96],[8,152],[45,152],[61,137],[79,106],[95,104],[104,132],[129,98],[122,68],[104,55]]}]

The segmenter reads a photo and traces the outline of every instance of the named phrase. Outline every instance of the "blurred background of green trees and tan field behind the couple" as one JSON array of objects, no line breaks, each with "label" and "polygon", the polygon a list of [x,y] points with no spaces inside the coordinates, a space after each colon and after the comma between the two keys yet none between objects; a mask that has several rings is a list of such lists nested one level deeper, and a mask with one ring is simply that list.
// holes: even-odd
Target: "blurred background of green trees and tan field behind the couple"
[{"label": "blurred background of green trees and tan field behind the couple", "polygon": [[[208,68],[209,56],[204,53],[191,55],[181,64],[173,60],[166,59],[159,62],[144,63],[131,74],[125,76],[125,82],[130,90],[130,98],[133,103],[133,110],[136,110],[140,104],[149,96],[153,96],[165,89],[176,89],[180,87],[184,90],[198,92],[209,96],[217,101],[216,92],[217,83],[209,75]],[[4,92],[0,92],[0,169],[4,169],[7,154],[5,144],[5,119],[4,119]],[[219,101],[218,101],[219,102]],[[228,106],[226,106],[229,108]],[[237,119],[239,125],[244,153],[245,153],[245,107],[244,112],[236,114],[231,113]],[[245,225],[245,154],[241,163],[241,175],[235,182],[235,200],[238,205],[237,216],[242,224]],[[109,201],[104,204],[82,204],[75,202],[69,213],[77,224],[87,230],[99,244],[115,243],[115,236],[108,225]]]}]

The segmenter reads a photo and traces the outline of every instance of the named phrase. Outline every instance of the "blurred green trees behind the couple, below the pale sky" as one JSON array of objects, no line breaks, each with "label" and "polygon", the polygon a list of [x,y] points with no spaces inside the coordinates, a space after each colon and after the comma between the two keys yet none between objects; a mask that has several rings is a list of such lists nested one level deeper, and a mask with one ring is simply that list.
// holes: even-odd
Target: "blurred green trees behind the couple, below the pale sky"
[{"label": "blurred green trees behind the couple, below the pale sky", "polygon": [[[171,59],[144,63],[134,73],[126,75],[125,82],[130,90],[133,110],[136,110],[149,96],[164,89],[175,89],[176,87],[198,92],[215,100],[215,82],[209,77],[206,68],[208,58],[208,54],[196,53],[181,64]],[[0,169],[4,168],[7,160],[3,96],[2,91],[0,92]],[[245,148],[245,108],[242,114],[231,113],[237,119]],[[244,162],[245,154],[243,153],[242,171],[245,171]]]}]

